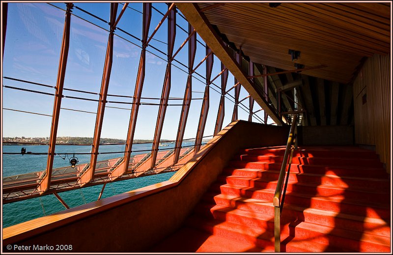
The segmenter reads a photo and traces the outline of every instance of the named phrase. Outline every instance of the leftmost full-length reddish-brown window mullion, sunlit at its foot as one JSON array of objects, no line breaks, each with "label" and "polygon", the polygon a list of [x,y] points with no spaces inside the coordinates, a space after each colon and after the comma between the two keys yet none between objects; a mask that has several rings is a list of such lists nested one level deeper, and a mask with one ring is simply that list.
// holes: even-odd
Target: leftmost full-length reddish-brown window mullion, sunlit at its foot
[{"label": "leftmost full-length reddish-brown window mullion, sunlit at its foot", "polygon": [[49,138],[48,158],[45,170],[45,176],[40,181],[38,191],[43,194],[50,189],[53,160],[55,157],[55,145],[57,136],[58,119],[60,115],[61,98],[63,97],[63,86],[65,69],[67,66],[68,49],[70,46],[70,26],[71,26],[71,9],[72,3],[67,3],[67,10],[65,12],[63,38],[61,42],[60,60],[58,64],[57,80],[56,80],[56,95],[53,103],[51,134]]}]

